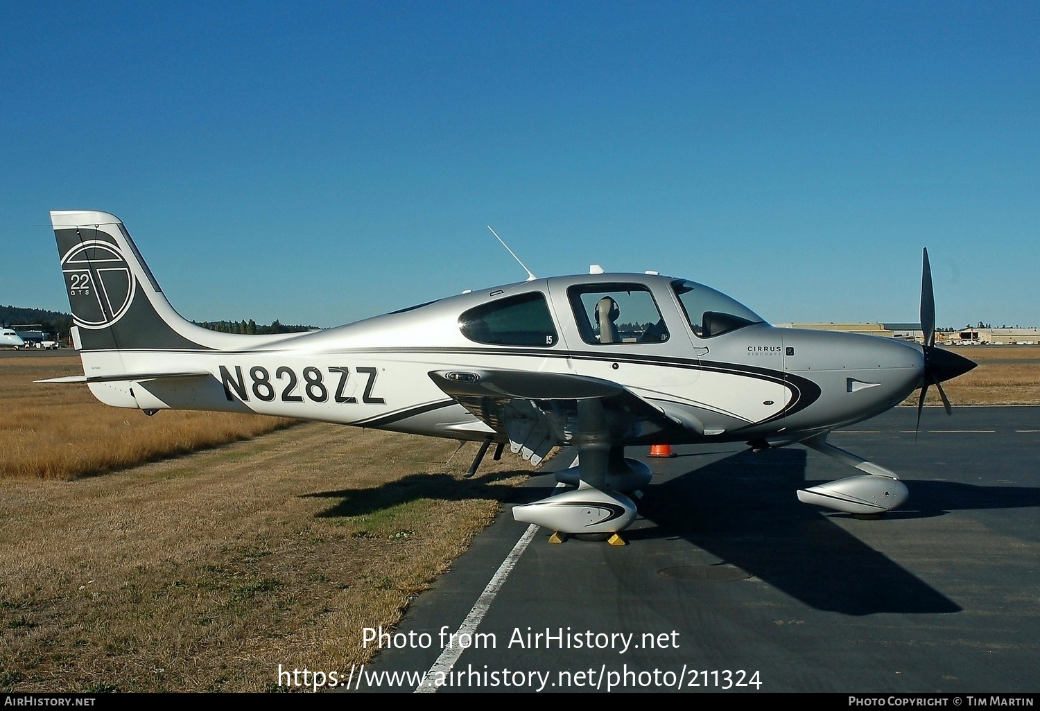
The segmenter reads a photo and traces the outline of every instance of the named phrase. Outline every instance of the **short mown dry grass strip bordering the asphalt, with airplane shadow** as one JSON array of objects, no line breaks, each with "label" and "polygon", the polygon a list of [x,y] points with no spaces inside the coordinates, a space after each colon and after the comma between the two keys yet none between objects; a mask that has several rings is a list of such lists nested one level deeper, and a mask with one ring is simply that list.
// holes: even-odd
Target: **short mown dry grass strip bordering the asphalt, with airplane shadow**
[{"label": "short mown dry grass strip bordering the asphalt, with airplane shadow", "polygon": [[346,670],[520,460],[308,423],[75,481],[0,480],[0,690],[263,691]]}]

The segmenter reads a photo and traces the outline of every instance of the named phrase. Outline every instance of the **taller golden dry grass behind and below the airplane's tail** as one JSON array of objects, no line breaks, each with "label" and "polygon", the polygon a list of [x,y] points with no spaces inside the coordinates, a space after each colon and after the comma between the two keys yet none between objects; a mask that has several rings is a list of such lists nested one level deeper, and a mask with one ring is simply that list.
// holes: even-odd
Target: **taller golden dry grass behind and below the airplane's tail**
[{"label": "taller golden dry grass behind and below the airplane's tail", "polygon": [[36,384],[82,375],[79,357],[0,358],[0,476],[75,479],[244,440],[292,424],[232,413],[109,407],[82,384]]}]

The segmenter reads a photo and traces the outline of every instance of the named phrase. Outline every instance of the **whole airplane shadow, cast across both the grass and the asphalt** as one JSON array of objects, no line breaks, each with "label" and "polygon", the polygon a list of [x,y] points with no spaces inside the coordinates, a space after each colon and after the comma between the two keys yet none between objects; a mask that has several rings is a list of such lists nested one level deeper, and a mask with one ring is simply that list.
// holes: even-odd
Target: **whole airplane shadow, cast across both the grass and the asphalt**
[{"label": "whole airplane shadow, cast across both the grass and the asphalt", "polygon": [[[683,538],[818,610],[850,615],[962,610],[835,522],[848,515],[798,501],[799,489],[821,483],[806,481],[806,462],[807,453],[802,449],[758,454],[744,451],[652,483],[646,488],[639,509],[655,525],[633,527],[624,535],[633,547],[652,545],[655,539]],[[526,503],[549,496],[555,485],[552,472],[536,474],[523,486],[496,484],[521,473],[489,473],[472,479],[413,474],[379,486],[305,496],[340,499],[317,515],[330,518],[371,514],[420,498]],[[898,534],[914,535],[915,521],[950,510],[1040,505],[1040,490],[1036,489],[946,481],[906,483],[911,498],[905,509],[863,525],[905,528]]]}]

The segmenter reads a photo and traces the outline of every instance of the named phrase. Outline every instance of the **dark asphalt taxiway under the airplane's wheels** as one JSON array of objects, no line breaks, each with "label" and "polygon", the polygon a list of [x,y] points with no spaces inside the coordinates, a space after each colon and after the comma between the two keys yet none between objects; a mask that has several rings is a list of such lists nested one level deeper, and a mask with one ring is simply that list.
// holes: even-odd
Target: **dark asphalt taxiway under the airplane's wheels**
[{"label": "dark asphalt taxiway under the airplane's wheels", "polygon": [[[506,506],[411,606],[395,630],[411,642],[357,670],[357,688],[411,690],[386,674],[440,657],[440,692],[1040,690],[1040,407],[927,409],[916,442],[914,416],[831,437],[903,477],[909,500],[881,520],[800,503],[798,489],[853,472],[799,446],[649,459],[628,546],[538,529],[502,576],[527,530]],[[515,503],[554,484],[535,477]],[[483,636],[445,653],[464,622]]]}]

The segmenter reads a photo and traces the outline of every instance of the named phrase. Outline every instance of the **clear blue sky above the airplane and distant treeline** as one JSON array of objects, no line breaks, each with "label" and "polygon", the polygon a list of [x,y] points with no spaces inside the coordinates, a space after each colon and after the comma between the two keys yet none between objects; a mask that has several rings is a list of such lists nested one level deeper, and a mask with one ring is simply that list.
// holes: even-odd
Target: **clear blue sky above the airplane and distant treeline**
[{"label": "clear blue sky above the airplane and distant treeline", "polygon": [[768,320],[1040,324],[1040,5],[0,4],[0,304],[51,209],[197,320],[657,269]]}]

